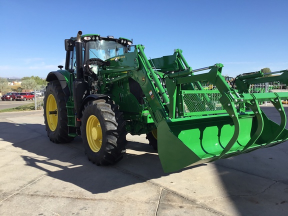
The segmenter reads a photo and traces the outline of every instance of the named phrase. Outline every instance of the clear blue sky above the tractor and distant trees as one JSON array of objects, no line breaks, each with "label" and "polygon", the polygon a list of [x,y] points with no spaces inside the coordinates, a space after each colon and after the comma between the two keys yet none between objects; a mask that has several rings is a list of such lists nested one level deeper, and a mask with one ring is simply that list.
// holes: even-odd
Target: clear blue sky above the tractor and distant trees
[{"label": "clear blue sky above the tractor and distant trees", "polygon": [[288,68],[287,0],[0,0],[0,9],[0,77],[46,77],[78,30],[133,38],[148,58],[180,48],[193,69],[223,63],[223,75]]}]

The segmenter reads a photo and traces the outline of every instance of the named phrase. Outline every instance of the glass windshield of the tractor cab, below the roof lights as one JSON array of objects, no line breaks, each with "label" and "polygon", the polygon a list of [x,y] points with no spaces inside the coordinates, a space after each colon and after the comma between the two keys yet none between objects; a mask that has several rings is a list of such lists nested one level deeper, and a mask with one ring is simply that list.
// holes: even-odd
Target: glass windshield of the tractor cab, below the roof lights
[{"label": "glass windshield of the tractor cab, below the roof lights", "polygon": [[106,60],[108,58],[124,54],[127,47],[113,40],[96,40],[86,42],[85,61],[90,58],[100,58]]}]

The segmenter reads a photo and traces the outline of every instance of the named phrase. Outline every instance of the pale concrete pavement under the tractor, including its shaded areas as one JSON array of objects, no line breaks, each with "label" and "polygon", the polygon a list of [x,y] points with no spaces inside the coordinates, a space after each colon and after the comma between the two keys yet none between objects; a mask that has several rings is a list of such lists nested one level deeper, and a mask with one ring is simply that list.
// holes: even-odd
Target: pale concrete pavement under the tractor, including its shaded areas
[{"label": "pale concrete pavement under the tractor, including its shaded areas", "polygon": [[41,110],[0,113],[0,215],[288,214],[287,142],[164,173],[143,135],[96,166],[80,137],[52,143],[43,122]]}]

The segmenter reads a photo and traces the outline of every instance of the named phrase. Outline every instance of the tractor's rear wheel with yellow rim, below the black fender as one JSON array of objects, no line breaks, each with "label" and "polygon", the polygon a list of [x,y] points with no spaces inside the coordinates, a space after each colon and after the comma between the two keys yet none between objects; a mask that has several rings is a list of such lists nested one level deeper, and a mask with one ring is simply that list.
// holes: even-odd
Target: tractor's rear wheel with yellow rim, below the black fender
[{"label": "tractor's rear wheel with yellow rim, below the black fender", "polygon": [[[65,143],[73,140],[68,136],[65,95],[58,80],[48,82],[44,95],[44,123],[52,142]],[[54,112],[51,114],[51,112]]]}]

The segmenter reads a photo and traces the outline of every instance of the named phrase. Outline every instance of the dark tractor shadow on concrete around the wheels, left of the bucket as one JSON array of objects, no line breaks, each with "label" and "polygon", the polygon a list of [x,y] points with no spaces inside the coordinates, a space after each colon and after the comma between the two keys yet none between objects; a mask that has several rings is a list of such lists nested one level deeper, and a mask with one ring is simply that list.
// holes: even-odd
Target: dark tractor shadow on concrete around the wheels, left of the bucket
[{"label": "dark tractor shadow on concrete around the wheels, left of the bucket", "polygon": [[21,149],[16,150],[19,153],[14,159],[21,157],[24,164],[16,169],[33,167],[41,175],[72,183],[93,194],[169,175],[163,172],[157,153],[146,143],[128,141],[122,160],[110,166],[97,166],[88,161],[80,137],[70,143],[53,143],[43,124],[1,122],[0,130],[0,140],[6,143],[2,149],[12,150],[10,144]]}]

